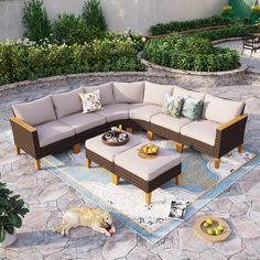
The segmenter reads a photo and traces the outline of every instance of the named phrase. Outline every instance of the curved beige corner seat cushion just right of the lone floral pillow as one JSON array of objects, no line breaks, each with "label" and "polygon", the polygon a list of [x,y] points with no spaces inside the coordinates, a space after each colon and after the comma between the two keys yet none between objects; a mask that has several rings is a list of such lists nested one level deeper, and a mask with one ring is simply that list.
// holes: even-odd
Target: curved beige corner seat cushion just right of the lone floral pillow
[{"label": "curved beige corner seat cushion just right of the lone floral pillow", "polygon": [[101,110],[96,112],[107,119],[107,122],[122,120],[129,118],[129,105],[128,104],[113,104],[104,106]]}]

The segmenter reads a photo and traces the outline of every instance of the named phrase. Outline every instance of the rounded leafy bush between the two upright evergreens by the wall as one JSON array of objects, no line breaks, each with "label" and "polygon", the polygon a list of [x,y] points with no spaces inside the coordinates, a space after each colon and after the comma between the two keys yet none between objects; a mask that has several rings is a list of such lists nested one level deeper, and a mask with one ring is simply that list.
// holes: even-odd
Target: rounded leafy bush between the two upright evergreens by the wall
[{"label": "rounded leafy bush between the two upright evergreens by the wall", "polygon": [[89,28],[80,17],[75,14],[59,14],[57,21],[53,24],[53,36],[57,43],[84,44],[94,39],[101,37],[98,29]]}]

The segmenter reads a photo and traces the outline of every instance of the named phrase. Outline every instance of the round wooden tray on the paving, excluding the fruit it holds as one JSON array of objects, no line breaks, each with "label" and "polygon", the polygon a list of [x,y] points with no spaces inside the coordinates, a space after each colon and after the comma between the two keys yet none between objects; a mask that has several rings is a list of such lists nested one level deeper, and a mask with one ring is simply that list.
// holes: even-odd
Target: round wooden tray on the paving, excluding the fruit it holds
[{"label": "round wooden tray on the paving, excluding the fruit it holds", "polygon": [[[213,220],[213,225],[210,226],[210,228],[216,228],[217,225],[223,225],[224,226],[224,231],[218,235],[218,236],[210,236],[207,234],[207,228],[205,228],[203,226],[204,221],[206,219],[210,218]],[[230,227],[229,225],[223,220],[221,218],[217,218],[217,217],[214,217],[214,216],[202,216],[202,217],[198,217],[195,223],[194,223],[194,232],[195,235],[201,238],[202,240],[206,241],[206,242],[220,242],[220,241],[224,241],[226,240],[229,235],[230,235]]]}]

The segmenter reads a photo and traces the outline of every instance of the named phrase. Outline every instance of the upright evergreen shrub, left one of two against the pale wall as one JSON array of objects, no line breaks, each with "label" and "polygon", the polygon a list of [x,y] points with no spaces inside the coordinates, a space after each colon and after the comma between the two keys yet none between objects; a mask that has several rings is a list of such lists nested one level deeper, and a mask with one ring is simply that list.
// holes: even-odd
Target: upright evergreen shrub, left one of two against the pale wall
[{"label": "upright evergreen shrub, left one of two against the pale wall", "polygon": [[24,36],[31,41],[39,42],[51,34],[51,22],[42,0],[29,0],[23,8]]}]

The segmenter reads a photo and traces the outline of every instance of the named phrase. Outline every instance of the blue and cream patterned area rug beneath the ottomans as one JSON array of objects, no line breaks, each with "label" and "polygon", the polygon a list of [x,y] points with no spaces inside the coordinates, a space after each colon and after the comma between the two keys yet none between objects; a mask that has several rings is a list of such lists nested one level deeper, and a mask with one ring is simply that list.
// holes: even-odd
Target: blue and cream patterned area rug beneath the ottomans
[{"label": "blue and cream patterned area rug beneath the ottomans", "polygon": [[[147,142],[144,133],[137,134]],[[10,132],[6,132],[6,137],[11,140]],[[154,142],[161,148],[174,149],[172,142],[165,139],[156,138]],[[42,160],[42,166],[141,237],[155,243],[260,164],[260,155],[249,151],[240,154],[234,150],[221,159],[220,169],[215,170],[212,158],[186,148],[182,162],[181,185],[176,186],[173,180],[155,189],[149,207],[144,205],[143,192],[139,188],[124,181],[115,186],[110,173],[98,165],[87,169],[84,147],[79,154],[65,151],[46,156]],[[172,201],[192,202],[184,220],[169,217]]]}]

